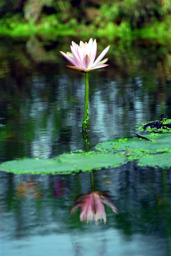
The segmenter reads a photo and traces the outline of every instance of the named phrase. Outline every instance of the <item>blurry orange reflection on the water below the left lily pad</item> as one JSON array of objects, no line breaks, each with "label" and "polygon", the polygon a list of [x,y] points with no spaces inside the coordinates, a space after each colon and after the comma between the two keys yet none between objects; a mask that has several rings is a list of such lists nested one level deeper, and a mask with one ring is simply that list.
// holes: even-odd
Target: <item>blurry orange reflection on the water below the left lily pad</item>
[{"label": "blurry orange reflection on the water below the left lily pad", "polygon": [[37,186],[37,182],[23,182],[18,184],[18,196],[28,196],[28,197],[41,197],[41,193],[39,191],[39,188]]}]

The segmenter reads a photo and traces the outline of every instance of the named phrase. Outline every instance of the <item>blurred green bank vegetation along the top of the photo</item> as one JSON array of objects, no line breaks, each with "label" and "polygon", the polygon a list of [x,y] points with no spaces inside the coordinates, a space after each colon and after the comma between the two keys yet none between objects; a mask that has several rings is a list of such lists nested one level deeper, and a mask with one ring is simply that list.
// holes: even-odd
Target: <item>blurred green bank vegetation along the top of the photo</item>
[{"label": "blurred green bank vegetation along the top of the photo", "polygon": [[136,38],[169,44],[170,0],[1,0],[1,35]]}]

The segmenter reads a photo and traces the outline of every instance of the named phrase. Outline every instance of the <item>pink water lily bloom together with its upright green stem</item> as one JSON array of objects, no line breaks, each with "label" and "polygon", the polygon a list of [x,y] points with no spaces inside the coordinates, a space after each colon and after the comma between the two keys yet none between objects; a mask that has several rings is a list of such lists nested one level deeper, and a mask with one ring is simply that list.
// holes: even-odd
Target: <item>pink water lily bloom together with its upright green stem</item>
[{"label": "pink water lily bloom together with its upright green stem", "polygon": [[[74,66],[66,66],[67,68],[78,70],[85,73],[85,107],[84,107],[84,117],[82,122],[82,131],[85,132],[88,124],[88,111],[89,111],[89,75],[90,70],[105,68],[108,64],[104,64],[108,58],[103,59],[105,54],[109,50],[109,46],[103,50],[103,52],[97,57],[97,43],[96,39],[93,41],[92,38],[89,42],[76,44],[72,41],[71,52],[61,52],[60,53],[69,60]],[[95,61],[94,61],[95,60]]]}]

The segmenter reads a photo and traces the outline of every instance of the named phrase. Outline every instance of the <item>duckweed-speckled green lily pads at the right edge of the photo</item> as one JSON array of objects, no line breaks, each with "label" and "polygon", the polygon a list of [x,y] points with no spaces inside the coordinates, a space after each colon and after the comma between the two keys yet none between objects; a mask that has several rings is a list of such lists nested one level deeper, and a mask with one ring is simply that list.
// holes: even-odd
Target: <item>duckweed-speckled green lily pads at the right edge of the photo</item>
[{"label": "duckweed-speckled green lily pads at the right edge of the photo", "polygon": [[137,164],[141,166],[171,167],[171,134],[149,133],[145,137],[146,139],[107,140],[95,148],[105,153],[124,154],[128,161],[136,160]]}]

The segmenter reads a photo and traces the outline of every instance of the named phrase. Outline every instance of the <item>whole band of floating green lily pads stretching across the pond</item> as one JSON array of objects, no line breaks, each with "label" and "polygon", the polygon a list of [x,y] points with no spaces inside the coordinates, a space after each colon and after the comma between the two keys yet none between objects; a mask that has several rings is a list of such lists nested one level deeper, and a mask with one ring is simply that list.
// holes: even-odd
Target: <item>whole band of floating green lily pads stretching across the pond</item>
[{"label": "whole band of floating green lily pads stretching across the pond", "polygon": [[147,133],[140,138],[106,140],[94,151],[63,153],[56,158],[27,158],[7,161],[1,169],[13,173],[68,174],[117,167],[127,162],[138,166],[171,167],[171,133]]}]

